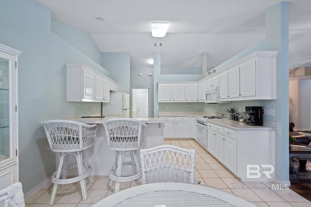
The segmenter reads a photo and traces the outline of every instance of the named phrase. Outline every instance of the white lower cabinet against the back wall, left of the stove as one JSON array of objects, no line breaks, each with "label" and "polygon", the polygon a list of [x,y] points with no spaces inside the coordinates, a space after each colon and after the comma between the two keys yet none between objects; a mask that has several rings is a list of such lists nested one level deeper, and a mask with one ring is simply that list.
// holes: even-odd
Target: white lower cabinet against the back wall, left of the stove
[{"label": "white lower cabinet against the back wall, left of the stove", "polygon": [[189,138],[190,137],[190,117],[188,116],[168,116],[164,124],[164,138]]}]

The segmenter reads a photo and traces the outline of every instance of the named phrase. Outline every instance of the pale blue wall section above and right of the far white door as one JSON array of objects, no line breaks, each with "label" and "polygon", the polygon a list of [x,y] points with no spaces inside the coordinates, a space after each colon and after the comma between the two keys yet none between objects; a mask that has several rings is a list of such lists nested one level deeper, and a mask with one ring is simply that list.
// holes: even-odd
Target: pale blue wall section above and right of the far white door
[{"label": "pale blue wall section above and right of the far white door", "polygon": [[[141,76],[138,74],[142,73]],[[152,73],[152,76],[148,76]],[[131,67],[131,89],[149,88],[149,116],[154,117],[154,68],[153,67]]]}]

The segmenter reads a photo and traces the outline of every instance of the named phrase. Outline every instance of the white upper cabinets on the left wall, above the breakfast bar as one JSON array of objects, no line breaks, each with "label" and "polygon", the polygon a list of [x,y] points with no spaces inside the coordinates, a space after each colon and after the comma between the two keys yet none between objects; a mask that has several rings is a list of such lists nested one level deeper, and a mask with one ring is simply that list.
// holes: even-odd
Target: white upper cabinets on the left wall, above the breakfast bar
[{"label": "white upper cabinets on the left wall, above the breakfast bar", "polygon": [[67,101],[109,102],[110,82],[117,83],[86,64],[66,64]]}]

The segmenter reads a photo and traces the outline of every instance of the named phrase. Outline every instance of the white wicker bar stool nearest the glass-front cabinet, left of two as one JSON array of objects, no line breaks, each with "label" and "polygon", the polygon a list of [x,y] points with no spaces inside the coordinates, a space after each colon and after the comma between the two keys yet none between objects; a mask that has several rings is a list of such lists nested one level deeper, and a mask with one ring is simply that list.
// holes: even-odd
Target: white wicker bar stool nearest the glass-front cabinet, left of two
[{"label": "white wicker bar stool nearest the glass-front cabinet, left of two", "polygon": [[[92,166],[87,164],[84,150],[95,143],[97,125],[87,125],[69,120],[50,120],[43,123],[43,127],[53,152],[60,153],[57,171],[52,175],[53,190],[50,206],[53,205],[57,185],[69,184],[80,181],[82,198],[87,199],[85,178],[93,183],[91,178]],[[68,163],[69,155],[74,155],[77,163]],[[67,178],[67,171],[77,168],[79,175]],[[62,177],[60,178],[60,175]]]}]

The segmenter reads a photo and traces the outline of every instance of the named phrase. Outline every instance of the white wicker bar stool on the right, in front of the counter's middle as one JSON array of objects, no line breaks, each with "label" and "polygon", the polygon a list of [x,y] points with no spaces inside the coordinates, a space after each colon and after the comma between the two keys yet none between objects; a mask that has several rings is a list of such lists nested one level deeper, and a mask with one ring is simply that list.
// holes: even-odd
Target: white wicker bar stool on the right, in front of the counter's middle
[{"label": "white wicker bar stool on the right, in front of the counter's middle", "polygon": [[[147,125],[131,118],[109,119],[104,124],[108,148],[116,152],[114,166],[109,170],[110,187],[116,182],[115,192],[120,189],[120,182],[136,180],[141,177],[141,170],[136,151],[141,147],[144,128]],[[123,161],[129,154],[131,161]],[[134,175],[122,175],[122,166],[132,165]]]}]

